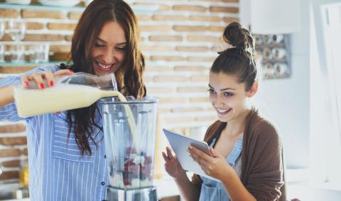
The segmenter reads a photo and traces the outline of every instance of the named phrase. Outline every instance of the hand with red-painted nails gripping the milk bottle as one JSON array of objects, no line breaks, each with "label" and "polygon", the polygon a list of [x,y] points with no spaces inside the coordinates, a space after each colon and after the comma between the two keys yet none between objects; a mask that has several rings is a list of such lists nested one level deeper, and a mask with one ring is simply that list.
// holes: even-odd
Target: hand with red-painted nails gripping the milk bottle
[{"label": "hand with red-painted nails gripping the milk bottle", "polygon": [[[64,69],[55,72],[54,74],[51,71],[44,71],[42,73],[36,73],[36,74],[30,74],[23,76],[21,78],[21,81],[23,82],[23,86],[28,88],[29,81],[34,81],[36,83],[37,88],[43,89],[46,87],[54,86],[55,85],[55,76],[62,76],[62,75],[72,75],[73,71]],[[48,86],[45,86],[45,83],[48,84]]]}]

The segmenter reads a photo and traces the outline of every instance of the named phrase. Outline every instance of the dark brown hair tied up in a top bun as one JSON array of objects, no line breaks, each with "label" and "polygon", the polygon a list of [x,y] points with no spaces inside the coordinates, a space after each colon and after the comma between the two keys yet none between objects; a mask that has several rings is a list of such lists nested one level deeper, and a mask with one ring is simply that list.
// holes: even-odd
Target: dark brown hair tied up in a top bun
[{"label": "dark brown hair tied up in a top bun", "polygon": [[239,83],[245,84],[245,91],[249,91],[254,81],[259,79],[254,39],[249,30],[242,28],[237,22],[227,25],[223,38],[232,47],[218,52],[220,55],[213,62],[210,71],[236,75]]}]

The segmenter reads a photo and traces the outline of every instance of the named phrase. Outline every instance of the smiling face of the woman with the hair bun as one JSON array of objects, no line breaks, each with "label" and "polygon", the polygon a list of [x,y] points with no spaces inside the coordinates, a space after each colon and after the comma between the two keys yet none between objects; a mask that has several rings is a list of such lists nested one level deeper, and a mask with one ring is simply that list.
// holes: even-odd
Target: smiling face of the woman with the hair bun
[{"label": "smiling face of the woman with the hair bun", "polygon": [[230,122],[242,117],[249,110],[247,99],[250,93],[237,76],[210,72],[210,102],[217,111],[219,120]]}]

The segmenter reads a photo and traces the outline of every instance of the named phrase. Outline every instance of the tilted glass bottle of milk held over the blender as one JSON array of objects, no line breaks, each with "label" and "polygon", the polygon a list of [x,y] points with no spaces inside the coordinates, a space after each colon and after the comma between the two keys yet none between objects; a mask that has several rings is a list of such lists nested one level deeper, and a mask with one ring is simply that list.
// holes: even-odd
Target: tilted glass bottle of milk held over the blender
[{"label": "tilted glass bottle of milk held over the blender", "polygon": [[126,101],[117,91],[114,74],[94,76],[75,73],[56,78],[55,86],[45,89],[36,88],[33,81],[29,83],[28,88],[22,85],[14,87],[14,100],[20,117],[85,108],[100,98],[112,96]]}]

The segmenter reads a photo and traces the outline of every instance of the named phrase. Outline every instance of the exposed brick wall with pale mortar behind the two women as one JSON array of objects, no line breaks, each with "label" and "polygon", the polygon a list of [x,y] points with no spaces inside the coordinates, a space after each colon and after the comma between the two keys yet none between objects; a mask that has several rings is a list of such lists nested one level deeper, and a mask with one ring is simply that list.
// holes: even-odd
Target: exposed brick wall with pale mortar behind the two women
[{"label": "exposed brick wall with pale mortar behind the two women", "polygon": [[[129,0],[134,6],[156,6],[153,13],[136,12],[141,28],[141,47],[146,57],[148,96],[160,97],[160,127],[183,131],[206,127],[216,119],[207,100],[208,72],[217,51],[222,50],[222,30],[238,21],[238,0]],[[23,44],[48,42],[50,60],[64,61],[70,51],[73,28],[81,11],[0,9],[0,18],[22,18],[27,34]],[[8,34],[2,43],[14,44]],[[0,67],[0,74],[16,74],[33,67]],[[18,177],[18,159],[26,157],[24,125],[1,122],[0,180]],[[165,139],[158,136],[159,144]],[[163,147],[161,146],[161,149]],[[157,153],[158,154],[158,153]],[[156,163],[160,161],[156,160]]]}]

